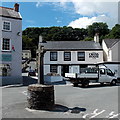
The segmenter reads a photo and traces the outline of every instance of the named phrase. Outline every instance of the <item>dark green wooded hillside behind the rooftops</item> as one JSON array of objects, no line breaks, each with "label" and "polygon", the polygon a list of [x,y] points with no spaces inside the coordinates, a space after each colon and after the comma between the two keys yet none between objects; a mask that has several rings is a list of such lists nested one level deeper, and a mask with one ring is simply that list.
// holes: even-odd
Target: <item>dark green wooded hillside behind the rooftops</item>
[{"label": "dark green wooded hillside behind the rooftops", "polygon": [[115,25],[110,31],[106,23],[93,23],[87,29],[72,27],[31,27],[23,31],[23,49],[30,49],[32,57],[36,56],[39,35],[44,41],[91,41],[95,33],[99,33],[100,43],[104,38],[120,38],[120,25]]}]

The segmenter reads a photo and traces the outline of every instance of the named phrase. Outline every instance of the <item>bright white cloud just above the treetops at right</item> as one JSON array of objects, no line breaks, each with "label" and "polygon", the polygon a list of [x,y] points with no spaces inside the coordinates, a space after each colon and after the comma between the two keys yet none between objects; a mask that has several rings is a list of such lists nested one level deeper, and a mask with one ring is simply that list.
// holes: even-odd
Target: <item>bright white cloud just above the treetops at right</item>
[{"label": "bright white cloud just above the treetops at right", "polygon": [[106,15],[99,15],[97,17],[82,17],[77,20],[74,20],[69,23],[68,26],[71,26],[73,28],[87,28],[88,25],[92,25],[94,22],[108,22],[110,28],[114,25],[114,21],[111,21],[109,17]]}]

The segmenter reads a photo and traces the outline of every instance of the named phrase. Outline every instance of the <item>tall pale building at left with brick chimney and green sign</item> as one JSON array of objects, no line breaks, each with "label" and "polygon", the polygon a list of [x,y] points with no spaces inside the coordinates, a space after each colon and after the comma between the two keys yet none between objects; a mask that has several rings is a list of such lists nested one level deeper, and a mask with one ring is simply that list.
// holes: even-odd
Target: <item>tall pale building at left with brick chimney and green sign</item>
[{"label": "tall pale building at left with brick chimney and green sign", "polygon": [[[0,82],[22,83],[22,17],[19,4],[0,7]],[[1,81],[2,80],[2,81]]]}]

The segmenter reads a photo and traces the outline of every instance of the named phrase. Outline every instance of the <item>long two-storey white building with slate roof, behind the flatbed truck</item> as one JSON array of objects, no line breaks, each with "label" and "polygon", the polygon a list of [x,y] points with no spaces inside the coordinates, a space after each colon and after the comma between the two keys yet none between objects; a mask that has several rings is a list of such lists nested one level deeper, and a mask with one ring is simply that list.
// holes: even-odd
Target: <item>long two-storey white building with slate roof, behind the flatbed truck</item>
[{"label": "long two-storey white building with slate roof, behind the flatbed truck", "polygon": [[103,62],[103,49],[94,41],[47,41],[43,44],[44,75],[47,73],[79,73],[83,68]]}]

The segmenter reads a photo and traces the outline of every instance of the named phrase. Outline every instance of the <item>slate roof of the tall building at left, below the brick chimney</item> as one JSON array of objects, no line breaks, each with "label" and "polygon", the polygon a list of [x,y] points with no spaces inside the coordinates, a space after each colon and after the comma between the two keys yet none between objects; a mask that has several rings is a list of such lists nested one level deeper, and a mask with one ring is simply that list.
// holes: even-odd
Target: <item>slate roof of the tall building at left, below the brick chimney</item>
[{"label": "slate roof of the tall building at left, below the brick chimney", "polygon": [[16,12],[13,8],[0,7],[0,16],[22,20],[20,13]]}]

